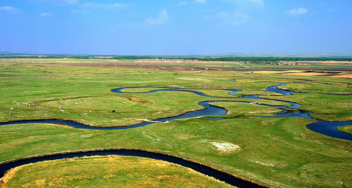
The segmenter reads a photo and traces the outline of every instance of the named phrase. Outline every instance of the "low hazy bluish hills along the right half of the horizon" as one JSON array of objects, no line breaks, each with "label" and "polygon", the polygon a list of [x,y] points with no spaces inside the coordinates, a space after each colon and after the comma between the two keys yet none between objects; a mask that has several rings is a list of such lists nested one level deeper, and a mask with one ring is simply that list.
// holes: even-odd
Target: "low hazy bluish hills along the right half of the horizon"
[{"label": "low hazy bluish hills along the right half of the horizon", "polygon": [[195,56],[211,57],[352,57],[352,53],[215,53]]}]

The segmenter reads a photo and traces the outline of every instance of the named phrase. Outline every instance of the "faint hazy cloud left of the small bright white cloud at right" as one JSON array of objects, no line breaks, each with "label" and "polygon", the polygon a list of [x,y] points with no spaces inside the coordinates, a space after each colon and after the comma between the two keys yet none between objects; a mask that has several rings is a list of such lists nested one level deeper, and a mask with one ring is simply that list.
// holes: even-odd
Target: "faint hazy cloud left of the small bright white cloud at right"
[{"label": "faint hazy cloud left of the small bright white cloud at right", "polygon": [[241,12],[219,12],[215,15],[208,15],[204,17],[205,19],[222,19],[226,23],[234,24],[234,25],[240,25],[243,23],[246,23],[249,19],[249,15]]}]

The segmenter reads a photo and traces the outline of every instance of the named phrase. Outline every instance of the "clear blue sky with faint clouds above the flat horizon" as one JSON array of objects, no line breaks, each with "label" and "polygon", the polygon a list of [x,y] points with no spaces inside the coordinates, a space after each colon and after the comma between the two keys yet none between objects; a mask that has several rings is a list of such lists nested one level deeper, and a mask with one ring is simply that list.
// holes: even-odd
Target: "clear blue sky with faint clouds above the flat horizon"
[{"label": "clear blue sky with faint clouds above the flat horizon", "polygon": [[1,0],[0,51],[352,53],[352,0]]}]

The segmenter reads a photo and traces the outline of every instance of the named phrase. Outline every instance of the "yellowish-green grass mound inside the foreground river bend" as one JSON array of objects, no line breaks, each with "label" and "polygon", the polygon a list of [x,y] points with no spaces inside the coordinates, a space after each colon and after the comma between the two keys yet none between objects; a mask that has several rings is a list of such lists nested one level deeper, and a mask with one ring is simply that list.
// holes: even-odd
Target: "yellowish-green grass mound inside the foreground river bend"
[{"label": "yellowish-green grass mound inside the foreground river bend", "polygon": [[43,161],[14,168],[7,175],[9,188],[232,187],[177,164],[116,155]]}]

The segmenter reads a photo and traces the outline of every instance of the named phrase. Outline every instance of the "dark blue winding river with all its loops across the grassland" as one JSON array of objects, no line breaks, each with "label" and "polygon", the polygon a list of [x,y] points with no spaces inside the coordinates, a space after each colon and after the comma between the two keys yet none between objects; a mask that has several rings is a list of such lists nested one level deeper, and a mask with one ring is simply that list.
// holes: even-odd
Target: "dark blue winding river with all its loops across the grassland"
[{"label": "dark blue winding river with all its loops across the grassland", "polygon": [[[270,91],[270,92],[279,93],[281,96],[292,95],[292,93],[294,93],[292,91],[286,91],[286,90],[282,90],[282,89],[277,88],[279,86],[285,86],[285,85],[286,85],[285,83],[281,83],[279,85],[267,87],[266,90]],[[124,89],[130,89],[130,88],[152,88],[155,90],[151,90],[151,91],[147,91],[147,92],[124,92],[123,91]],[[195,94],[198,94],[201,96],[217,97],[217,96],[207,95],[203,92],[199,92],[199,91],[195,91],[195,90],[198,90],[198,89],[191,90],[191,89],[186,89],[186,88],[180,89],[180,88],[166,88],[166,87],[121,87],[121,88],[112,89],[111,91],[117,92],[117,93],[153,93],[153,92],[161,92],[161,91],[179,91],[179,92],[182,91],[182,92],[192,92],[192,93],[195,93]],[[202,90],[204,90],[204,89],[202,89]],[[241,90],[227,89],[227,88],[223,88],[221,90],[228,90],[229,92],[227,94],[236,94],[238,92],[241,92]],[[302,110],[287,110],[287,108],[299,107],[299,106],[301,106],[301,104],[298,104],[295,102],[277,100],[277,99],[266,99],[266,98],[262,98],[260,96],[263,96],[263,95],[245,95],[244,98],[281,101],[281,102],[288,103],[288,105],[268,105],[268,104],[256,103],[258,105],[273,106],[273,107],[277,107],[277,108],[282,109],[281,112],[272,113],[271,116],[258,116],[258,117],[262,117],[262,118],[303,117],[303,118],[316,120],[317,122],[308,124],[307,128],[309,128],[310,130],[313,130],[315,132],[327,135],[327,136],[352,141],[351,134],[340,132],[336,129],[338,126],[352,125],[352,121],[322,121],[322,120],[314,119],[314,118],[311,118],[308,116],[309,114],[311,114],[311,112],[306,112],[306,111],[302,111]],[[217,97],[217,98],[231,98],[231,97]],[[159,119],[155,119],[154,121],[163,122],[163,121],[190,118],[190,117],[198,117],[198,116],[224,115],[227,113],[227,110],[225,110],[224,108],[211,105],[211,103],[213,103],[213,102],[250,103],[250,102],[235,101],[235,100],[201,101],[198,104],[200,106],[205,107],[205,109],[191,111],[191,112],[188,112],[188,113],[185,113],[182,115],[177,115],[177,116],[172,116],[172,117],[159,118]],[[284,109],[284,108],[286,108],[286,109]],[[219,117],[207,117],[207,118],[220,119]],[[0,125],[23,124],[23,123],[63,123],[63,124],[68,124],[68,125],[76,127],[76,128],[116,130],[116,129],[135,128],[135,127],[145,126],[145,125],[153,124],[153,123],[157,123],[157,122],[143,122],[143,123],[139,123],[139,124],[135,124],[135,125],[131,125],[131,126],[120,126],[120,127],[93,127],[93,126],[81,124],[81,123],[74,122],[74,121],[46,119],[46,120],[22,120],[22,121],[3,122],[3,123],[0,123]],[[173,162],[173,163],[177,163],[177,164],[180,164],[180,165],[183,165],[186,167],[190,167],[196,171],[207,174],[209,176],[213,176],[219,180],[222,180],[226,183],[229,183],[229,184],[237,186],[237,187],[263,187],[263,186],[254,184],[252,182],[234,177],[234,176],[229,175],[227,173],[224,173],[222,171],[215,170],[215,169],[210,168],[208,166],[205,166],[205,165],[202,165],[202,164],[199,164],[196,162],[191,162],[191,161],[179,158],[179,157],[169,156],[169,155],[160,154],[160,153],[153,153],[153,152],[148,152],[148,151],[127,150],[127,149],[84,151],[84,152],[76,152],[76,153],[68,153],[68,154],[56,154],[56,155],[51,155],[51,156],[40,156],[40,157],[35,157],[35,158],[30,158],[30,159],[23,159],[23,160],[8,162],[8,163],[0,165],[0,178],[3,176],[3,173],[5,171],[7,171],[13,167],[23,165],[23,164],[28,164],[28,163],[33,163],[33,162],[38,162],[38,161],[43,161],[43,160],[55,160],[55,159],[62,159],[62,158],[72,158],[72,157],[77,157],[77,156],[94,156],[94,155],[108,155],[108,154],[140,156],[140,157],[147,157],[147,158],[153,158],[153,159],[161,159],[164,161]]]}]

